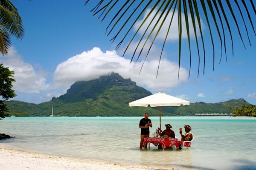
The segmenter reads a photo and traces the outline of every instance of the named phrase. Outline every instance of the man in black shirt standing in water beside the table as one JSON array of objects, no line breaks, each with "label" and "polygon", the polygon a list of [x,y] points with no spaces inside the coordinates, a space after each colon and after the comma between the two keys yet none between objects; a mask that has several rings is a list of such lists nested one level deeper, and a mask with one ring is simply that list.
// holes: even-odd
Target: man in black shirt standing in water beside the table
[{"label": "man in black shirt standing in water beside the table", "polygon": [[[144,138],[149,136],[149,127],[152,127],[151,120],[148,119],[148,116],[148,113],[145,113],[144,118],[140,120],[140,149],[142,149],[142,143],[144,141]],[[147,144],[145,148],[147,148]]]}]

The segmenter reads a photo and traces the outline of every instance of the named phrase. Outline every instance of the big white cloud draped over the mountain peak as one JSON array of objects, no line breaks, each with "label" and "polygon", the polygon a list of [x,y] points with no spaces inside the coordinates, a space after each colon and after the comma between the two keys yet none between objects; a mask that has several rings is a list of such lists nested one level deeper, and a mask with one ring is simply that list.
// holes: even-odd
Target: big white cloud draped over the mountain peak
[{"label": "big white cloud draped over the mountain peak", "polygon": [[145,61],[139,74],[142,62],[137,62],[134,67],[134,62],[130,65],[130,59],[118,56],[116,51],[103,53],[100,48],[95,47],[60,63],[55,70],[54,80],[58,86],[68,88],[75,81],[97,79],[113,71],[124,78],[131,78],[132,81],[137,82],[137,85],[150,91],[170,91],[181,82],[187,81],[188,71],[180,67],[178,81],[177,63],[166,59],[161,60],[160,71],[156,78],[158,62],[154,59]]}]

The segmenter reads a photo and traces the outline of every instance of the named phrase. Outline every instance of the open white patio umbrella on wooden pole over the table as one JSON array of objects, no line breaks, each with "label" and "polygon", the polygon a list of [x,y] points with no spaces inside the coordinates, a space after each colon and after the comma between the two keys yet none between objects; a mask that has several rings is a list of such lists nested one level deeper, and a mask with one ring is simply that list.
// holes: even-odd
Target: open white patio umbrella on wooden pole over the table
[{"label": "open white patio umbrella on wooden pole over the table", "polygon": [[161,130],[161,106],[180,106],[189,105],[189,101],[177,98],[175,96],[170,96],[165,93],[152,94],[150,96],[144,97],[142,99],[135,100],[129,103],[129,106],[143,106],[143,107],[157,107],[159,108],[159,118],[160,118],[160,130]]}]

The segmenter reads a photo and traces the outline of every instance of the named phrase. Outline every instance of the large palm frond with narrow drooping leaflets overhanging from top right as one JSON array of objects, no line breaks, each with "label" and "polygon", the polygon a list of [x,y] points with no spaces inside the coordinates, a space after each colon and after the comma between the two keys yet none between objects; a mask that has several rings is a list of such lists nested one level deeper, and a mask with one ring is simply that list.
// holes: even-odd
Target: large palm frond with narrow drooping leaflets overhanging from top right
[{"label": "large palm frond with narrow drooping leaflets overhanging from top right", "polygon": [[[85,4],[87,4],[89,1],[90,0],[86,0]],[[93,0],[93,3],[96,3],[96,0]],[[139,53],[136,57],[138,60],[141,57],[143,49],[145,48],[147,48],[147,51],[145,51],[147,52],[145,56],[146,59],[153,43],[156,41],[157,36],[159,36],[159,33],[166,31],[164,33],[165,39],[163,40],[159,62],[167,37],[169,34],[172,34],[170,28],[173,24],[172,20],[174,18],[174,14],[177,14],[179,67],[181,60],[181,45],[183,42],[181,35],[182,32],[186,32],[188,40],[187,49],[189,49],[190,54],[189,74],[192,61],[192,43],[196,44],[197,47],[195,51],[198,55],[198,75],[199,68],[201,67],[202,63],[201,58],[203,59],[204,72],[205,60],[206,57],[209,56],[205,54],[208,50],[205,49],[207,45],[205,45],[204,39],[208,39],[208,37],[205,37],[206,35],[202,33],[201,20],[204,20],[204,22],[207,23],[206,27],[209,29],[209,40],[211,40],[213,51],[213,70],[216,56],[220,57],[219,62],[221,62],[222,54],[225,53],[227,61],[227,42],[231,41],[233,54],[233,34],[239,35],[244,48],[245,37],[251,45],[250,38],[253,39],[256,36],[253,27],[255,22],[253,23],[252,21],[255,19],[254,17],[256,14],[253,0],[241,0],[239,2],[237,0],[126,0],[119,2],[117,0],[98,0],[98,3],[96,3],[96,6],[90,12],[93,12],[93,16],[98,14],[98,19],[101,18],[101,22],[109,16],[110,23],[106,28],[106,34],[110,35],[112,32],[114,32],[113,30],[116,30],[116,33],[111,39],[112,42],[116,40],[118,36],[123,36],[121,40],[117,42],[116,49],[119,48],[122,42],[128,38],[128,34],[132,28],[138,23],[140,18],[143,17],[143,14],[145,14],[143,20],[140,22],[140,25],[137,26],[137,30],[135,30],[136,33],[133,35],[131,34],[132,38],[129,40],[123,56],[131,45],[131,42],[136,40],[135,37],[137,36],[137,33],[141,31],[143,27],[145,27],[145,31],[142,31],[144,34],[142,36],[138,36],[139,41],[137,43],[137,47],[134,49],[134,54],[131,57],[131,61],[136,57],[137,53]],[[186,25],[185,30],[182,30],[183,20],[185,21]],[[192,22],[192,26],[189,26],[189,22]],[[168,29],[163,29],[164,23],[167,23],[169,26]],[[234,25],[234,27],[231,25]],[[117,26],[119,26],[119,28],[117,28]],[[189,30],[194,33],[195,41],[191,40],[192,36]],[[249,35],[250,32],[252,33],[251,35]],[[216,43],[217,45],[221,46],[221,54],[215,54]]]}]

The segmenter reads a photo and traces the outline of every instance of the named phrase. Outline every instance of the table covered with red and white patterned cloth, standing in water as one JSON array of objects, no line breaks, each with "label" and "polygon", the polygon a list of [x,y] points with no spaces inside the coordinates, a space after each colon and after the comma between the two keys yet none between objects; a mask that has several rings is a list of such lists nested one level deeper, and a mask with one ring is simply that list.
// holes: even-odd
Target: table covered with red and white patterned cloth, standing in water
[{"label": "table covered with red and white patterned cloth, standing in water", "polygon": [[179,148],[179,142],[177,138],[154,138],[154,137],[145,137],[142,146],[145,147],[146,143],[149,143],[148,148],[150,149],[150,143],[153,143],[155,146],[162,144],[163,149],[166,147],[176,146],[176,149]]}]

